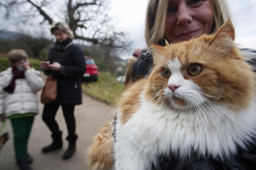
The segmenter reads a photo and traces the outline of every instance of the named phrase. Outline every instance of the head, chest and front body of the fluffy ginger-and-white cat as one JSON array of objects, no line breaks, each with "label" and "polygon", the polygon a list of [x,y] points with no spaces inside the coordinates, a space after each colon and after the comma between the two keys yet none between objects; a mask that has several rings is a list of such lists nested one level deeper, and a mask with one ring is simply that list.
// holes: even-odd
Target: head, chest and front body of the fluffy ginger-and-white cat
[{"label": "head, chest and front body of the fluffy ginger-and-white cat", "polygon": [[228,160],[255,137],[255,74],[227,21],[214,35],[153,45],[151,74],[125,91],[114,168],[157,167],[161,155]]}]

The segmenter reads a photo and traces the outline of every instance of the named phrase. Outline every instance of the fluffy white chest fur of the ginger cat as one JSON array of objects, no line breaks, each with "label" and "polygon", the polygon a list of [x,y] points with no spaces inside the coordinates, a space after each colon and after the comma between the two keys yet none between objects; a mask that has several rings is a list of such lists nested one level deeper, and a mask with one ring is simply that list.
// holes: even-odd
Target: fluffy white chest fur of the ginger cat
[{"label": "fluffy white chest fur of the ginger cat", "polygon": [[[160,105],[160,106],[159,106]],[[164,105],[142,102],[140,110],[121,124],[117,117],[116,169],[150,169],[163,153],[188,156],[191,149],[205,155],[229,156],[236,145],[255,133],[256,106],[233,113],[222,106],[206,106],[197,111],[174,111]]]}]

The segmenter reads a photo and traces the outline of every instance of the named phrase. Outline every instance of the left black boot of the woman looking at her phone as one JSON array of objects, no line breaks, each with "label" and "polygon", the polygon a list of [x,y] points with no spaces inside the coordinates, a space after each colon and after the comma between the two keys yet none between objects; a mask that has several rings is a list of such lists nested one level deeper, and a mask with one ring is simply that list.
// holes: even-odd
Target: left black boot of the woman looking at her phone
[{"label": "left black boot of the woman looking at her phone", "polygon": [[53,142],[50,145],[44,147],[42,149],[42,152],[47,153],[53,150],[61,149],[62,148],[61,134],[62,134],[61,131],[58,134],[52,134],[51,137]]}]

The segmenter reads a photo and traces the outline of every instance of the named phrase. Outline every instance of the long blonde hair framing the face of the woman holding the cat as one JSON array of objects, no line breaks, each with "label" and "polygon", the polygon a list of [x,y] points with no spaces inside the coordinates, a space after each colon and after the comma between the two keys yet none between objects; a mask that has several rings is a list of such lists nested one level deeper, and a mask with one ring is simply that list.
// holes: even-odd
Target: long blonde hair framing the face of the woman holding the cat
[{"label": "long blonde hair framing the face of the woman holding the cat", "polygon": [[[215,33],[220,26],[230,17],[226,0],[209,0],[214,15],[214,24],[210,33]],[[147,46],[150,43],[162,45],[166,13],[169,0],[150,0],[147,6],[145,38]]]}]

